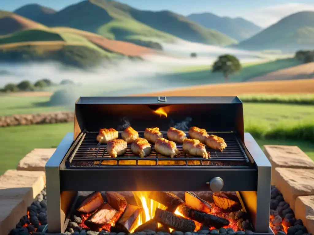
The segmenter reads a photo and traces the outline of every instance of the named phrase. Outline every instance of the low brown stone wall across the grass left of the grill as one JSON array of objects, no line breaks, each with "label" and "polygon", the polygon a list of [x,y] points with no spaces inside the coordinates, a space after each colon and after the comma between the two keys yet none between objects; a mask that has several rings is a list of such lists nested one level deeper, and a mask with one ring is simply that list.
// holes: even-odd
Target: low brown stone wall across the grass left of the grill
[{"label": "low brown stone wall across the grass left of the grill", "polygon": [[73,112],[20,114],[0,117],[0,127],[73,122]]}]

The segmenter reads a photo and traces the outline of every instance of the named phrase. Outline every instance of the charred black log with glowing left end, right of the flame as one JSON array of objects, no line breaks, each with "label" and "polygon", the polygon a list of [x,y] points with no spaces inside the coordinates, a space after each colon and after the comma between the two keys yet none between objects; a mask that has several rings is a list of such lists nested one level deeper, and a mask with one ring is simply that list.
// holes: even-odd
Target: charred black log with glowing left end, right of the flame
[{"label": "charred black log with glowing left end, right of the flame", "polygon": [[186,205],[181,205],[178,207],[178,211],[187,218],[190,218],[192,220],[195,220],[197,222],[202,223],[203,225],[207,227],[215,227],[217,229],[223,227],[223,226],[228,226],[229,225],[229,220],[210,215],[201,211],[197,211],[192,209],[189,206]]}]

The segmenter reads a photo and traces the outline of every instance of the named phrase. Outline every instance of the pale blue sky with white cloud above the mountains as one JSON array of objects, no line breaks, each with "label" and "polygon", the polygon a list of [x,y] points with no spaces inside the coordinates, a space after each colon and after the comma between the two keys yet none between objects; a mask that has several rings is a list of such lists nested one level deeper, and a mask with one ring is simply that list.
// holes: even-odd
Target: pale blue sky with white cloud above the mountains
[{"label": "pale blue sky with white cloud above the mountains", "polygon": [[[314,11],[314,0],[117,0],[141,10],[170,10],[182,15],[210,12],[219,16],[242,17],[268,27],[281,18],[300,11]],[[14,11],[37,3],[56,10],[78,3],[78,0],[0,0],[0,9]]]}]

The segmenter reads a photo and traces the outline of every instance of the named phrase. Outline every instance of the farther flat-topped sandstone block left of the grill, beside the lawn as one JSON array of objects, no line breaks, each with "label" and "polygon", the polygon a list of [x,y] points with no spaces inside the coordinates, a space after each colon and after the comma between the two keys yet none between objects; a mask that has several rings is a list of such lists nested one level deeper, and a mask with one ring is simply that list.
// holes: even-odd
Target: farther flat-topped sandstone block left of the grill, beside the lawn
[{"label": "farther flat-topped sandstone block left of the grill, beside the lawn", "polygon": [[19,161],[16,170],[45,171],[45,165],[56,149],[33,149]]}]

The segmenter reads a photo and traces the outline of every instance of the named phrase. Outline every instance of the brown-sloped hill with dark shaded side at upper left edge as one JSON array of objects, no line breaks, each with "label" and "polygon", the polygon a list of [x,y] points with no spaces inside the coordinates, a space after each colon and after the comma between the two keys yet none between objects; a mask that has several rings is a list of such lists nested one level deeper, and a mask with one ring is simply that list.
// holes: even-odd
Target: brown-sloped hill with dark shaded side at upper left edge
[{"label": "brown-sloped hill with dark shaded side at upper left edge", "polygon": [[0,35],[12,34],[25,29],[46,29],[47,27],[17,14],[0,11]]}]

